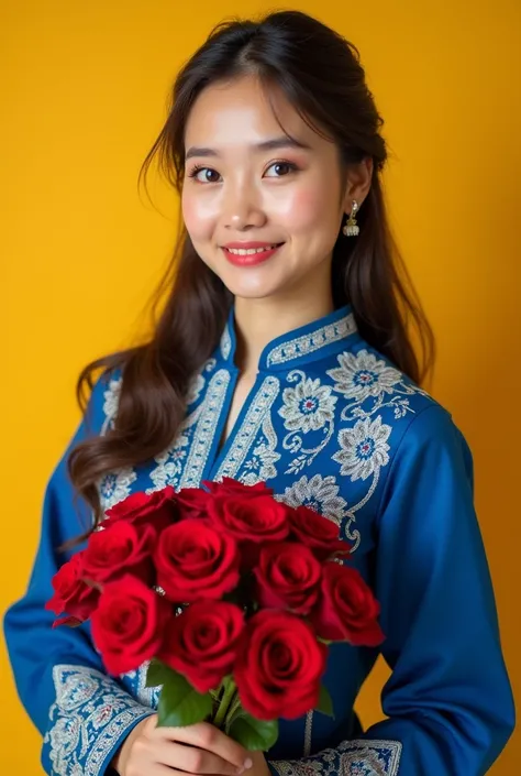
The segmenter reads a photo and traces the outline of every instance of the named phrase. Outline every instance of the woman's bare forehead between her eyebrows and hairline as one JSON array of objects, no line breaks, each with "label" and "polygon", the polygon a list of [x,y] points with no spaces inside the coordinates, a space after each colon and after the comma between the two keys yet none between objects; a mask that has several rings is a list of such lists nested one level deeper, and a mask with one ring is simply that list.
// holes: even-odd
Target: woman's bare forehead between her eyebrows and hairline
[{"label": "woman's bare forehead between her eyebrows and hairline", "polygon": [[279,88],[264,86],[255,76],[243,76],[211,84],[201,91],[188,117],[185,145],[211,142],[225,153],[226,147],[236,149],[279,136],[280,124],[288,134],[306,144],[320,143],[320,135]]}]

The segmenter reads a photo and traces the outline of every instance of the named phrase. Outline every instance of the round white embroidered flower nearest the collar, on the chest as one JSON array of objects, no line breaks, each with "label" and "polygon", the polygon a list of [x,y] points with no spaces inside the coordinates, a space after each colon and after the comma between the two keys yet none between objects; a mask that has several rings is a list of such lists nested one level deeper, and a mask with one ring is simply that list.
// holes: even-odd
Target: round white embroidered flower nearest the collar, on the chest
[{"label": "round white embroidered flower nearest the collar, on the chest", "polygon": [[334,417],[336,396],[329,385],[321,385],[320,380],[306,378],[295,387],[282,392],[284,406],[278,414],[285,419],[289,431],[317,431],[331,423]]}]

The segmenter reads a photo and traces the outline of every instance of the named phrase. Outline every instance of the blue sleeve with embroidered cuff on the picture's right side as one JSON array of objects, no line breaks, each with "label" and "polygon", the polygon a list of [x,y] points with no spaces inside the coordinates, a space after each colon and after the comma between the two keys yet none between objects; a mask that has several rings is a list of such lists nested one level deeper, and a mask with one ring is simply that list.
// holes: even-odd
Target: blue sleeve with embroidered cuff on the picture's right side
[{"label": "blue sleeve with embroidered cuff on the picture's right side", "polygon": [[505,747],[514,707],[473,503],[473,460],[448,413],[430,405],[401,438],[375,525],[375,593],[392,670],[388,719],[356,741],[274,773],[481,776]]}]

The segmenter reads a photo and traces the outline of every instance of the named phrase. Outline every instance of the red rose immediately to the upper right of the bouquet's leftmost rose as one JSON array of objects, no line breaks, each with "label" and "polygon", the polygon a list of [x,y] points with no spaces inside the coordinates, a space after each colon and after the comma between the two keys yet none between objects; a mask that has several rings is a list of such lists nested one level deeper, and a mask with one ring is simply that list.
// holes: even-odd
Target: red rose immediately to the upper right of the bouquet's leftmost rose
[{"label": "red rose immediately to the upper right of the bouquet's leftmost rose", "polygon": [[152,550],[156,542],[154,528],[123,520],[110,531],[97,531],[89,537],[84,551],[84,575],[95,582],[103,583],[133,573],[144,582],[154,581]]}]

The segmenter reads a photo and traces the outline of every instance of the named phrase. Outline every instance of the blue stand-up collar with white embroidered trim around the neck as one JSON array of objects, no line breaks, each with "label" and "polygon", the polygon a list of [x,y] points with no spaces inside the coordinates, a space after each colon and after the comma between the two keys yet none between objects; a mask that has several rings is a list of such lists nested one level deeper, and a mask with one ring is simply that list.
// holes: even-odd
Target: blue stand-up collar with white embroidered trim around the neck
[{"label": "blue stand-up collar with white embroidered trim around the neck", "polygon": [[[317,361],[330,351],[341,350],[345,339],[356,331],[352,307],[344,305],[322,318],[299,326],[268,342],[260,353],[258,371],[288,370]],[[217,354],[229,367],[233,367],[235,348],[235,312],[232,306]]]}]

